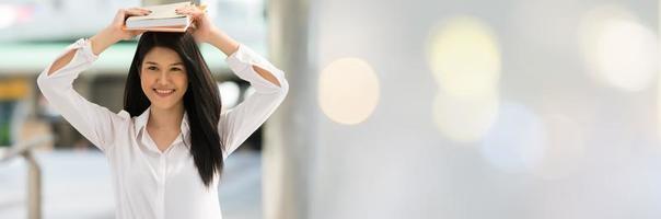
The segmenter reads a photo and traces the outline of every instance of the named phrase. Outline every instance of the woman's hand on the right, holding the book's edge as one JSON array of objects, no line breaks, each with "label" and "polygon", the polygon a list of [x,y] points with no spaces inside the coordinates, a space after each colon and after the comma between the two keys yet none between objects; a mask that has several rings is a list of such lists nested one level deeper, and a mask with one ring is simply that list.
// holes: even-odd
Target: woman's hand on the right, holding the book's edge
[{"label": "woman's hand on the right, holding the book's edge", "polygon": [[192,27],[194,28],[193,37],[195,37],[198,43],[209,43],[211,37],[219,32],[218,27],[213,25],[211,19],[209,19],[205,12],[204,7],[184,7],[176,9],[176,13],[190,15],[190,18],[193,18],[193,23],[195,24],[195,26]]}]

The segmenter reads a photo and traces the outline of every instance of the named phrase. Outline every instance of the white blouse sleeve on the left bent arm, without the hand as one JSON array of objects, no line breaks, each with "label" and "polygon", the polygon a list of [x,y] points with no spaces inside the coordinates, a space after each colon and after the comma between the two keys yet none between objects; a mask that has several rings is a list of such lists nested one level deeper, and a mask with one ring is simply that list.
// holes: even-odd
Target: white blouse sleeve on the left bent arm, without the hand
[{"label": "white blouse sleeve on the left bent arm, without the hand", "polygon": [[[73,81],[98,58],[92,53],[89,39],[81,38],[71,44],[59,56],[76,49],[73,59],[61,69],[48,76],[53,62],[39,74],[37,84],[49,104],[67,119],[73,128],[94,146],[106,151],[115,137],[118,126],[130,119],[123,111],[119,115],[105,107],[89,102],[73,90]],[[59,58],[58,57],[58,58]],[[57,59],[56,59],[57,60]]]}]

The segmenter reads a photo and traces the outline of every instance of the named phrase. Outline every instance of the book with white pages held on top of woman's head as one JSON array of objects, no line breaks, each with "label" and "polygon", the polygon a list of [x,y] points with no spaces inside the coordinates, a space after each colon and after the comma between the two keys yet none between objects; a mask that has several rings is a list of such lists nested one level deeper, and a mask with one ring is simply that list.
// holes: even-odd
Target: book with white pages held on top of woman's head
[{"label": "book with white pages held on top of woman's head", "polygon": [[192,2],[179,2],[144,7],[151,13],[144,16],[129,16],[125,22],[124,30],[152,31],[152,32],[186,32],[192,18],[177,14],[176,9],[194,5]]}]

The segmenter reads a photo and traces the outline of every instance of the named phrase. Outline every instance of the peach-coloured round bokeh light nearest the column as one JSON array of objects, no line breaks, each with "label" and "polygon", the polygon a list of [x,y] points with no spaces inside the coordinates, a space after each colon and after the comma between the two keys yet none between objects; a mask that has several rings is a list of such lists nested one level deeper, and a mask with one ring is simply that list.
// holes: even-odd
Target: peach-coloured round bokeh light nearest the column
[{"label": "peach-coloured round bokeh light nearest the column", "polygon": [[320,106],[335,123],[364,122],[374,112],[379,97],[379,78],[373,68],[359,58],[337,59],[320,76]]}]

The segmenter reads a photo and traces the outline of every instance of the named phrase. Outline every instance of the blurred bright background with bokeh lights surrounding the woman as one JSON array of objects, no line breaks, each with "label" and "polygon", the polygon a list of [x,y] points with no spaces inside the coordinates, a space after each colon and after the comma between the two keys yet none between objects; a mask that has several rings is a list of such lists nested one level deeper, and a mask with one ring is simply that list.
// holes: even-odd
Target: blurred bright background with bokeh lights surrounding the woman
[{"label": "blurred bright background with bokeh lights surrounding the woman", "polygon": [[[103,154],[36,76],[117,9],[166,2],[0,1],[0,218],[114,218]],[[201,3],[290,82],[228,159],[224,218],[661,218],[660,1]],[[120,111],[135,48],[74,88]],[[251,95],[202,51],[225,107]]]}]

